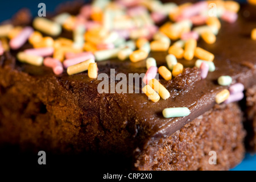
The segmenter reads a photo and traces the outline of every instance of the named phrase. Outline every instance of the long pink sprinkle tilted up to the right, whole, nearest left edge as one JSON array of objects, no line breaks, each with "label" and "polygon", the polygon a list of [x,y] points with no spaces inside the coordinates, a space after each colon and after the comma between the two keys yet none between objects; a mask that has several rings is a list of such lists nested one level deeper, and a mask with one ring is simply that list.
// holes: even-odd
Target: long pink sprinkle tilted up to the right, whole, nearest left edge
[{"label": "long pink sprinkle tilted up to the right, whole, nearest left edge", "polygon": [[34,32],[33,28],[25,27],[23,30],[17,35],[15,38],[11,39],[10,47],[12,49],[18,49],[23,46],[24,43],[27,42],[30,35]]}]

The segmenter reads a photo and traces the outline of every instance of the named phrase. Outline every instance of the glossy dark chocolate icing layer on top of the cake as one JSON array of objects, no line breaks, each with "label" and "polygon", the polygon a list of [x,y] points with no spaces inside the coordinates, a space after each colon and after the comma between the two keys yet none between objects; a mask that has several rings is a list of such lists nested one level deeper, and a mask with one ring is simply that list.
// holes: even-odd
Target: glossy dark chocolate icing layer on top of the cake
[{"label": "glossy dark chocolate icing layer on top of the cake", "polygon": [[[255,11],[256,9],[253,10]],[[251,12],[251,6],[243,7],[241,12],[243,11]],[[125,115],[127,118],[133,118],[136,127],[129,130],[133,133],[134,140],[139,143],[140,148],[146,148],[156,143],[160,138],[175,133],[186,123],[191,122],[212,108],[215,104],[216,94],[227,88],[217,84],[218,77],[222,75],[232,76],[233,84],[241,82],[245,85],[245,88],[256,84],[256,42],[250,39],[250,32],[255,27],[255,19],[251,20],[248,16],[245,18],[243,14],[233,24],[222,22],[216,43],[209,45],[204,43],[203,40],[199,41],[199,47],[207,49],[215,55],[216,71],[210,72],[205,80],[201,80],[199,69],[193,68],[196,59],[192,61],[178,60],[187,68],[181,75],[171,81],[165,81],[160,77],[160,82],[170,91],[171,97],[167,100],[160,99],[158,102],[148,100],[144,93],[99,94],[97,93],[97,85],[101,81],[90,79],[87,72],[72,76],[68,76],[64,72],[60,76],[55,76],[50,68],[19,63],[11,59],[8,53],[5,56],[1,56],[1,60],[3,60],[3,65],[8,64],[19,72],[27,73],[35,80],[41,81],[42,78],[46,80],[55,78],[57,80],[55,84],[63,86],[63,88],[80,97],[79,105],[85,110],[88,110],[89,106],[86,102],[101,100],[100,104],[106,104],[102,106],[98,105],[97,102],[90,102],[92,109],[89,109],[90,114],[88,115],[104,114],[101,113],[101,107],[109,107],[109,113],[105,113],[106,115]],[[69,32],[64,32],[63,35],[70,37]],[[22,49],[28,47],[30,46],[26,45]],[[16,54],[14,51],[11,53],[13,55]],[[150,53],[150,56],[156,59],[158,67],[160,65],[167,66],[166,55],[167,52]],[[9,58],[4,60],[3,57],[6,56]],[[128,75],[129,73],[140,74],[146,72],[145,60],[131,63],[129,60],[111,59],[97,64],[98,72],[107,73],[108,75],[110,75],[110,69],[115,69],[115,75],[118,73]],[[115,81],[115,84],[117,82]],[[162,110],[166,107],[188,107],[191,114],[187,117],[164,118]],[[112,110],[119,110],[119,112],[111,113]],[[105,125],[105,128],[109,130],[112,130],[111,127],[113,129],[115,127],[133,127],[134,123],[129,123],[129,121],[130,119],[127,119],[122,124],[112,123],[113,125],[110,125],[106,120],[102,122],[102,125]]]}]

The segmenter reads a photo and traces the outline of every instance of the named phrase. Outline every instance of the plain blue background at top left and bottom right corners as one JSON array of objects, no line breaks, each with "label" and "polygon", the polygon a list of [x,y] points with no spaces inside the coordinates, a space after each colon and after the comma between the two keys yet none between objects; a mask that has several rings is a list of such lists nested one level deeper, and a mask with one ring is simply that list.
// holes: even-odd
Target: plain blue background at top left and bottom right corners
[{"label": "plain blue background at top left and bottom right corners", "polygon": [[[11,0],[11,1],[1,1],[0,2],[0,22],[6,19],[10,19],[16,11],[22,9],[23,7],[27,7],[31,10],[32,15],[38,14],[38,4],[39,3],[46,4],[47,12],[53,12],[57,5],[61,2],[67,2],[63,0],[31,0],[31,1],[20,1],[20,0]],[[84,2],[88,2],[84,0]],[[240,2],[245,2],[241,0]],[[243,162],[239,164],[237,167],[232,169],[233,171],[243,171],[243,170],[254,170],[256,171],[256,155],[251,155],[249,153],[246,154]]]}]

